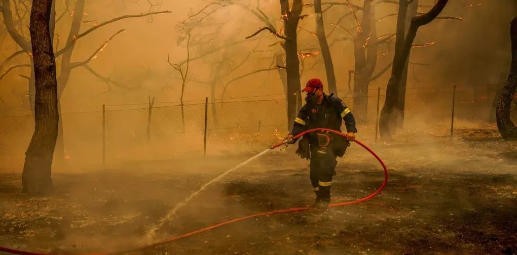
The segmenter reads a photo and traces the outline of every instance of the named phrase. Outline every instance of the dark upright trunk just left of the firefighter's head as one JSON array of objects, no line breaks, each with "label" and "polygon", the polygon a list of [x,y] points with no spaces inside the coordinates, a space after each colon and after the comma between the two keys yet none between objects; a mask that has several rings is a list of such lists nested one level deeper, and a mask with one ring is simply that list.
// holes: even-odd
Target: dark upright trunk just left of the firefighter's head
[{"label": "dark upright trunk just left of the firefighter's head", "polygon": [[300,61],[298,59],[298,42],[296,30],[300,21],[302,0],[293,0],[289,8],[288,0],[280,0],[282,17],[284,20],[285,40],[285,72],[287,73],[287,127],[291,130],[296,116],[298,116],[301,101]]}]

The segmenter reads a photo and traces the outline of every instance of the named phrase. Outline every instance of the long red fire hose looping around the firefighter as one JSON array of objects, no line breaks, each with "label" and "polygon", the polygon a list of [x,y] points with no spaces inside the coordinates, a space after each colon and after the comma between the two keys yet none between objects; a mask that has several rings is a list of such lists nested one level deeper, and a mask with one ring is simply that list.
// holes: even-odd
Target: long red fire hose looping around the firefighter
[{"label": "long red fire hose looping around the firefighter", "polygon": [[[294,136],[293,139],[297,139],[297,138],[301,137],[302,135],[305,135],[305,134],[311,133],[311,132],[315,132],[315,131],[330,132],[330,133],[334,133],[334,134],[346,137],[345,134],[337,132],[337,131],[334,131],[334,130],[330,130],[330,129],[311,129],[311,130],[307,130],[305,132],[302,132],[301,134],[299,134],[297,136]],[[355,142],[356,142],[356,144],[362,146],[364,149],[369,151],[375,158],[377,158],[377,161],[379,163],[381,163],[381,165],[382,165],[382,167],[384,169],[384,182],[381,185],[381,187],[379,187],[377,190],[375,190],[374,193],[372,193],[371,195],[369,195],[367,197],[364,197],[364,198],[361,198],[361,199],[358,199],[358,200],[354,200],[354,201],[349,201],[349,202],[329,204],[329,207],[342,206],[342,205],[347,205],[347,204],[355,204],[355,203],[359,203],[359,202],[362,202],[362,201],[366,201],[366,200],[374,197],[375,195],[377,195],[379,192],[381,192],[381,190],[383,190],[383,188],[388,183],[388,169],[386,168],[386,165],[381,160],[381,158],[379,156],[377,156],[377,154],[375,154],[375,152],[373,152],[372,149],[370,149],[366,145],[362,144],[362,142],[360,142],[358,140],[355,140]],[[282,142],[280,142],[277,145],[271,146],[269,149],[275,149],[275,148],[277,148],[277,147],[279,147],[281,145],[284,145],[284,144],[287,144],[287,141],[282,141]],[[112,252],[112,253],[87,253],[87,254],[72,254],[72,255],[119,255],[119,254],[124,254],[124,253],[130,253],[130,252],[144,250],[144,249],[147,249],[147,248],[151,248],[151,247],[163,245],[163,244],[166,244],[166,243],[170,243],[170,242],[176,241],[176,240],[178,240],[180,238],[184,238],[184,237],[191,236],[191,235],[194,235],[194,234],[197,234],[197,233],[201,233],[201,232],[205,232],[205,231],[208,231],[208,230],[211,230],[211,229],[215,229],[217,227],[221,227],[223,225],[227,225],[227,224],[239,221],[239,220],[255,218],[255,217],[258,217],[258,216],[272,215],[272,214],[307,211],[307,210],[311,210],[311,209],[313,209],[313,208],[310,208],[310,207],[300,207],[300,208],[292,208],[292,209],[284,209],[284,210],[277,210],[277,211],[271,211],[271,212],[257,213],[257,214],[253,214],[253,215],[237,218],[237,219],[232,219],[232,220],[224,221],[224,222],[221,222],[221,223],[219,223],[217,225],[212,225],[210,227],[206,227],[206,228],[203,228],[203,229],[195,230],[195,231],[183,234],[183,235],[178,235],[178,236],[172,237],[172,238],[170,238],[168,240],[165,240],[165,241],[162,241],[162,242],[159,242],[159,243],[154,243],[154,244],[150,244],[150,245],[146,245],[146,246],[136,247],[136,248],[129,249],[129,250],[117,251],[117,252]],[[58,254],[48,254],[48,253],[38,253],[38,252],[31,252],[31,251],[15,250],[15,249],[9,249],[9,248],[5,248],[5,247],[0,247],[0,251],[12,253],[12,254],[20,254],[20,255],[58,255]]]}]

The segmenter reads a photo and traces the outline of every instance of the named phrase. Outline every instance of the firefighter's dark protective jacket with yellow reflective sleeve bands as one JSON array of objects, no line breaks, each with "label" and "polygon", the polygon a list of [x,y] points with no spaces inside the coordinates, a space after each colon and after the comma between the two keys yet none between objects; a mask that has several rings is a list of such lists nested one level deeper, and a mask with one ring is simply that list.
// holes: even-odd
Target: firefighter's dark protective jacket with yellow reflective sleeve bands
[{"label": "firefighter's dark protective jacket with yellow reflective sleeve bands", "polygon": [[[316,129],[318,127],[341,132],[342,120],[345,121],[347,132],[357,133],[355,118],[351,110],[343,104],[341,99],[333,97],[332,94],[326,95],[324,93],[322,104],[319,105],[310,102],[309,99],[306,98],[306,104],[301,107],[290,134],[296,136],[303,131]],[[330,139],[326,138],[328,136]],[[322,138],[327,139],[327,141],[322,142]],[[304,135],[302,140],[299,142],[299,147],[305,144],[310,144],[311,147],[313,147],[313,145],[329,147],[337,156],[340,157],[343,156],[346,147],[349,146],[349,142],[342,136],[331,133],[324,137],[323,134],[318,134],[316,132]],[[305,149],[300,148],[300,150],[304,151]],[[302,158],[310,158],[310,155],[300,156]]]}]

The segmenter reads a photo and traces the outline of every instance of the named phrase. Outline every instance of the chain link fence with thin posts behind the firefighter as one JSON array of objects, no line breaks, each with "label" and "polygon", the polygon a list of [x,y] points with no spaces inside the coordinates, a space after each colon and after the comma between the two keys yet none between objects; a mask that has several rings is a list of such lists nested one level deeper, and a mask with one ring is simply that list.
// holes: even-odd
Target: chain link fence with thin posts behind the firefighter
[{"label": "chain link fence with thin posts behind the firefighter", "polygon": [[[368,113],[356,115],[358,139],[375,142],[382,90],[368,93]],[[354,113],[354,98],[341,93]],[[496,129],[495,91],[408,89],[404,131],[448,136],[451,130]],[[378,107],[377,107],[378,105]],[[263,151],[288,133],[285,100],[229,101],[96,110],[62,114],[65,157],[74,165],[100,166],[184,155]],[[23,166],[34,130],[31,114],[0,113],[0,167]],[[343,126],[343,130],[344,126]]]}]

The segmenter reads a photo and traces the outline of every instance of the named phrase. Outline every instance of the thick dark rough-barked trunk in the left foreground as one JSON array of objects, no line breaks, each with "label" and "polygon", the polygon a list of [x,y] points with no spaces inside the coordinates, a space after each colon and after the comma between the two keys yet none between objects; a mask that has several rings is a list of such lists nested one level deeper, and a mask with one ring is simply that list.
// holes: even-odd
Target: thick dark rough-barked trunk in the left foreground
[{"label": "thick dark rough-barked trunk in the left foreground", "polygon": [[53,192],[52,159],[56,146],[57,110],[56,62],[50,34],[52,0],[34,0],[29,31],[34,61],[35,129],[25,152],[23,191],[33,195]]}]

